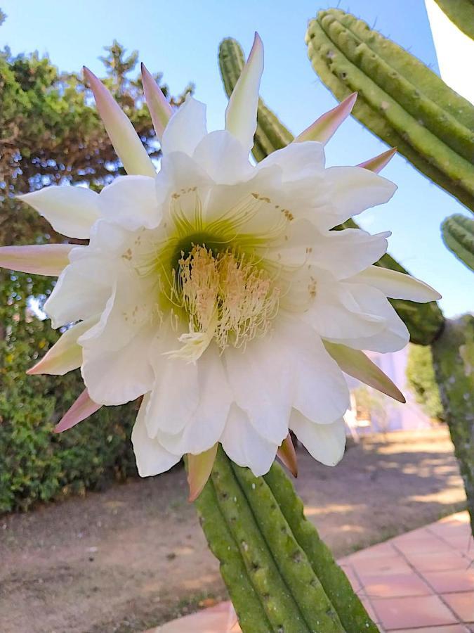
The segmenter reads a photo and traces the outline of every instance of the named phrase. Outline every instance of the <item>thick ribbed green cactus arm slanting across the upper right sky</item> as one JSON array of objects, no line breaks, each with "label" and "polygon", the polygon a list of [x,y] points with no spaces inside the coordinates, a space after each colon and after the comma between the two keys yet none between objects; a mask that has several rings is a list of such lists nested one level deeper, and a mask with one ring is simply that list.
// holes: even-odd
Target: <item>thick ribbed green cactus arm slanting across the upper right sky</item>
[{"label": "thick ribbed green cactus arm slanting across the upper right sky", "polygon": [[313,68],[338,99],[357,91],[355,117],[474,210],[473,106],[350,13],[320,11],[305,40]]}]

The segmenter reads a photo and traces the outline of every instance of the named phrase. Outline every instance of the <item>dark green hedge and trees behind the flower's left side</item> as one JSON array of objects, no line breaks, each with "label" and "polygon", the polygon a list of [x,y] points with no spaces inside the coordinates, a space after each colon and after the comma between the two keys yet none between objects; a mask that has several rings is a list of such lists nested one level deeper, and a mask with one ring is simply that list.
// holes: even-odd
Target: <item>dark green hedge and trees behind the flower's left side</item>
[{"label": "dark green hedge and trees behind the flower's left side", "polygon": [[[140,79],[129,78],[136,58],[114,41],[105,57],[106,83],[157,158]],[[170,101],[180,103],[190,89]],[[123,173],[81,77],[60,73],[37,53],[0,51],[0,146],[1,245],[65,241],[18,203],[16,193],[67,183],[98,190]],[[51,278],[0,269],[0,512],[136,472],[130,443],[136,404],[103,407],[78,428],[55,435],[54,424],[84,389],[79,372],[25,375],[58,339],[31,309],[32,298],[41,307],[51,288]]]}]

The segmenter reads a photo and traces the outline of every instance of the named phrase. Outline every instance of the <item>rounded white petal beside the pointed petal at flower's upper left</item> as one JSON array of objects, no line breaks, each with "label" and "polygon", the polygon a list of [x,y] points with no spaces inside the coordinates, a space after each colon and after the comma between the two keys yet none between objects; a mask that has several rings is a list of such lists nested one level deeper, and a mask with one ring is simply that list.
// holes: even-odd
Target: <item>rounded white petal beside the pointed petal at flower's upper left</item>
[{"label": "rounded white petal beside the pointed petal at flower's upper left", "polygon": [[121,176],[103,188],[99,196],[100,214],[135,231],[140,226],[153,229],[162,219],[154,178]]}]

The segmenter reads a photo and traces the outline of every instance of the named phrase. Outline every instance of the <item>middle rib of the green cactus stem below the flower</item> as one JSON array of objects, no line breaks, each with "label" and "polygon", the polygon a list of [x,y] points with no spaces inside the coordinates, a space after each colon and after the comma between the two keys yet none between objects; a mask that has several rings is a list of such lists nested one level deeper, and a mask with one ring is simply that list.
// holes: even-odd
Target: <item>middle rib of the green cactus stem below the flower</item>
[{"label": "middle rib of the green cactus stem below the flower", "polygon": [[291,588],[291,594],[310,631],[343,631],[320,580],[292,534],[265,480],[255,477],[248,468],[240,468],[233,463],[231,467],[265,542],[275,554],[279,573]]}]

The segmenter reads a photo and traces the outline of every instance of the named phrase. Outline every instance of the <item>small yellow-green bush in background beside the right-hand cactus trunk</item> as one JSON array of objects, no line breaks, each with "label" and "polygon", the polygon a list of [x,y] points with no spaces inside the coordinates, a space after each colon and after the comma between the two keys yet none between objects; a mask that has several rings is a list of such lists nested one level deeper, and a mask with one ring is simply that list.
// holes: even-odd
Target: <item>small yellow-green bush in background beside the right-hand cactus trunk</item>
[{"label": "small yellow-green bush in background beside the right-hand cactus trunk", "polygon": [[410,345],[407,362],[407,382],[416,402],[430,418],[444,420],[445,413],[436,383],[433,355],[430,347]]}]

